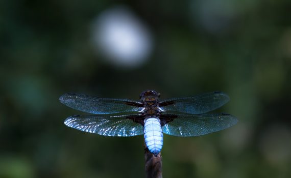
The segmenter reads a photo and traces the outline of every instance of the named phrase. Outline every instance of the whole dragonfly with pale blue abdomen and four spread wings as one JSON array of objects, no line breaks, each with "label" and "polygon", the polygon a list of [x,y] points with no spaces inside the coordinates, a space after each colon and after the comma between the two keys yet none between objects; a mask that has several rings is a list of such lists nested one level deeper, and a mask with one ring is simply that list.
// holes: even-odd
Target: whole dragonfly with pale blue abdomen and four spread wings
[{"label": "whole dragonfly with pale blue abdomen and four spread wings", "polygon": [[72,115],[64,124],[84,132],[105,136],[144,135],[149,151],[157,156],[163,146],[163,134],[191,137],[220,131],[238,120],[227,113],[208,113],[229,101],[223,92],[194,97],[160,100],[160,93],[144,91],[139,101],[99,98],[68,93],[59,100],[64,105],[94,115]]}]

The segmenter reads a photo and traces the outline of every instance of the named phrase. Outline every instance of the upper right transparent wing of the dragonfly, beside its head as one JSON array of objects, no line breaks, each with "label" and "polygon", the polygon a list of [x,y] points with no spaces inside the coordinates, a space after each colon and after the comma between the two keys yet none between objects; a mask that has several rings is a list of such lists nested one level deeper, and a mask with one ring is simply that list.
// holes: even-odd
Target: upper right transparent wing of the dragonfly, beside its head
[{"label": "upper right transparent wing of the dragonfly, beside its head", "polygon": [[223,106],[229,101],[229,97],[223,92],[212,92],[195,97],[171,98],[159,103],[165,113],[184,112],[190,114],[202,114]]}]

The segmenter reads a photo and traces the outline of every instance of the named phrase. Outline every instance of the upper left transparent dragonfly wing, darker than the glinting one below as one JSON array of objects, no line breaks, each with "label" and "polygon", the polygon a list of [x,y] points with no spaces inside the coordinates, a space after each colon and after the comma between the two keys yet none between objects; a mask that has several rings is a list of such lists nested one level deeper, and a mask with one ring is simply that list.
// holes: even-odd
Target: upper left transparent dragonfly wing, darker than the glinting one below
[{"label": "upper left transparent dragonfly wing, darker than the glinting one below", "polygon": [[136,112],[143,106],[127,99],[98,98],[82,94],[64,94],[59,100],[68,107],[93,114]]}]

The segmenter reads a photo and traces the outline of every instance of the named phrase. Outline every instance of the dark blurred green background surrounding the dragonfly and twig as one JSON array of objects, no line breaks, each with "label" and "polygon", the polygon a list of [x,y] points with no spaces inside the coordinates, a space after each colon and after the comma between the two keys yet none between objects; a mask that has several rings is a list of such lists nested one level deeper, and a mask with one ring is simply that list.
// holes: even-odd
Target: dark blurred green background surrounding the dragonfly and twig
[{"label": "dark blurred green background surrounding the dragonfly and twig", "polygon": [[[120,65],[94,38],[100,14],[120,7],[147,29],[150,47],[132,58],[136,65]],[[231,100],[216,112],[239,119],[205,136],[164,135],[164,177],[291,177],[290,7],[287,0],[0,1],[0,177],[144,177],[143,136],[68,128],[67,116],[84,113],[58,98],[138,100],[147,89],[161,98],[223,91]]]}]

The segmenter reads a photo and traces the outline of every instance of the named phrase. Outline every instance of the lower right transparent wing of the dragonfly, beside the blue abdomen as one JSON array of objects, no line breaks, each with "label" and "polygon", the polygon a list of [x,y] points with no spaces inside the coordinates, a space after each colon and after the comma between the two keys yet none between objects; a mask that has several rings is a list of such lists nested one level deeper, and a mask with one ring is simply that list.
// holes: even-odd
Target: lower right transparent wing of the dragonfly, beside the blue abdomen
[{"label": "lower right transparent wing of the dragonfly, beside the blue abdomen", "polygon": [[225,113],[175,116],[162,127],[163,133],[180,137],[199,136],[229,128],[238,121],[235,116]]}]

